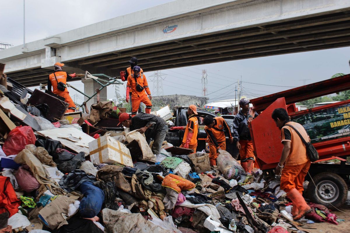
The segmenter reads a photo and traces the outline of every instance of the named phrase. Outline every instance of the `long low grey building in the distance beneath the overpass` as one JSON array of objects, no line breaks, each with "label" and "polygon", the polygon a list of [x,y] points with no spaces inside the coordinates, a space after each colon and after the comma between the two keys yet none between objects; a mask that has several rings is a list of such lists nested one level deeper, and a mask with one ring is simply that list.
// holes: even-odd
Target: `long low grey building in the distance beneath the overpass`
[{"label": "long low grey building in the distance beneath the overpass", "polygon": [[159,110],[166,105],[169,105],[170,110],[174,107],[188,107],[190,104],[203,108],[208,100],[209,98],[207,97],[199,97],[195,95],[152,96],[152,111]]}]

